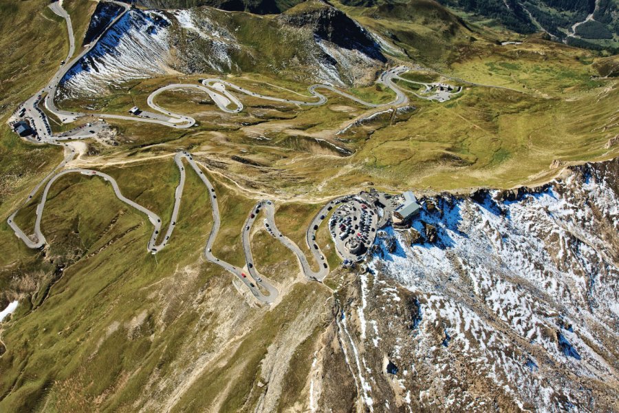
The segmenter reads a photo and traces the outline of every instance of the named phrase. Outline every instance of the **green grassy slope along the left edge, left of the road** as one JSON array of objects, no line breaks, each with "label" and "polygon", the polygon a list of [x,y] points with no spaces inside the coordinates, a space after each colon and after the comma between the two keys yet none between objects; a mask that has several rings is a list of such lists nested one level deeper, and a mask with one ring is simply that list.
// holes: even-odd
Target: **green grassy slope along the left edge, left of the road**
[{"label": "green grassy slope along the left edge, left of the road", "polygon": [[[86,2],[72,1],[69,5],[74,3],[78,7]],[[19,199],[32,182],[43,178],[62,159],[57,147],[26,144],[6,125],[17,105],[47,83],[69,51],[64,19],[56,16],[47,4],[47,1],[0,3],[0,157],[3,159],[0,202],[13,194]],[[73,22],[74,30],[83,33],[89,12],[81,10],[76,14],[80,18]],[[11,198],[0,205],[1,215],[8,215],[8,209],[16,206],[17,199]]]}]

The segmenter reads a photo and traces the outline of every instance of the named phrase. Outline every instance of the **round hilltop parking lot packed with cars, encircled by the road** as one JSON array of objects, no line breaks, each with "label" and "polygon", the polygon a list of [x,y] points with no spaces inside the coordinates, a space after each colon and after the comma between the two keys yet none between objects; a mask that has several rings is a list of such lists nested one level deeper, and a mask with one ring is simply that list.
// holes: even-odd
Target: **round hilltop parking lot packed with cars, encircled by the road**
[{"label": "round hilltop parking lot packed with cars, encircled by the road", "polygon": [[377,224],[376,210],[364,200],[351,198],[342,202],[329,220],[338,255],[343,260],[362,260],[374,242]]}]

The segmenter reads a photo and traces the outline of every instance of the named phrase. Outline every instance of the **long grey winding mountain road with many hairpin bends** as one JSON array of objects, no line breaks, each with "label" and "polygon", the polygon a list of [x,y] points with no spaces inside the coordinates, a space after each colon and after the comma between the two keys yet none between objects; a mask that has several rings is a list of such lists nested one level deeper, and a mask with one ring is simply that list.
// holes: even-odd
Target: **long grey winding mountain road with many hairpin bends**
[{"label": "long grey winding mountain road with many hairpin bends", "polygon": [[[359,103],[360,105],[365,105],[367,107],[382,107],[382,106],[390,106],[390,105],[401,105],[401,104],[408,102],[408,97],[406,96],[406,94],[404,94],[404,92],[402,92],[402,90],[399,89],[397,85],[395,85],[395,83],[393,83],[393,79],[397,78],[399,74],[402,74],[402,72],[406,72],[408,68],[404,66],[395,67],[391,70],[388,70],[387,72],[384,72],[382,76],[380,76],[378,83],[382,83],[386,85],[387,87],[391,88],[396,94],[396,97],[393,101],[391,101],[390,103],[384,103],[384,104],[374,104],[374,103],[365,102],[364,100],[361,100],[360,98],[357,98],[356,96],[353,96],[346,92],[342,92],[336,89],[335,87],[332,87],[331,85],[317,84],[317,85],[310,86],[308,88],[308,91],[314,98],[316,98],[316,100],[305,101],[305,100],[289,100],[289,99],[283,99],[283,98],[276,98],[273,96],[265,96],[265,95],[257,94],[254,92],[250,92],[249,90],[244,89],[243,87],[234,85],[233,83],[222,81],[216,78],[208,78],[202,81],[201,85],[175,83],[172,85],[161,87],[149,95],[149,97],[147,98],[147,104],[149,105],[149,107],[151,107],[157,112],[160,112],[161,114],[164,114],[165,116],[168,116],[169,120],[145,118],[145,117],[140,117],[140,116],[124,116],[124,115],[115,115],[115,114],[83,114],[83,113],[78,113],[78,112],[67,112],[62,109],[58,109],[58,107],[56,107],[56,105],[54,104],[54,96],[56,95],[58,84],[61,82],[63,77],[67,74],[67,72],[69,72],[69,70],[72,67],[74,67],[74,65],[78,64],[78,62],[80,61],[80,59],[83,58],[83,56],[85,56],[90,50],[92,50],[92,48],[96,45],[98,40],[101,39],[102,36],[105,35],[105,32],[107,32],[107,30],[109,30],[109,28],[111,28],[113,24],[116,23],[116,21],[118,21],[120,18],[122,18],[122,16],[127,12],[127,10],[129,10],[129,6],[127,6],[127,4],[125,3],[118,3],[116,1],[114,1],[114,3],[122,6],[122,11],[111,21],[111,23],[102,32],[102,34],[100,34],[98,38],[95,41],[93,41],[91,44],[87,45],[87,47],[85,47],[82,52],[80,52],[77,56],[75,56],[74,59],[72,59],[68,63],[63,63],[61,67],[58,69],[58,71],[56,71],[56,74],[54,74],[54,76],[52,77],[52,80],[50,81],[50,83],[48,83],[47,86],[41,89],[41,91],[39,91],[37,94],[32,96],[30,99],[26,100],[25,103],[23,103],[18,108],[18,112],[24,112],[22,116],[25,116],[25,118],[28,118],[31,120],[32,126],[34,127],[34,129],[36,129],[39,135],[39,141],[41,143],[47,143],[50,145],[63,146],[65,150],[65,156],[63,160],[60,162],[60,164],[58,164],[58,166],[56,166],[50,173],[48,173],[47,176],[45,176],[45,178],[34,189],[32,189],[32,191],[30,191],[30,193],[28,194],[28,198],[26,198],[23,201],[23,203],[19,206],[19,208],[8,217],[7,222],[9,226],[13,229],[15,235],[19,237],[19,239],[22,240],[24,244],[28,246],[29,248],[43,247],[47,243],[47,240],[45,239],[45,235],[43,235],[43,231],[41,230],[41,220],[43,218],[43,213],[45,211],[45,203],[47,202],[47,196],[50,192],[50,189],[52,188],[52,185],[54,184],[54,182],[56,182],[61,177],[68,175],[70,173],[80,173],[81,175],[84,175],[84,176],[91,176],[91,177],[96,176],[96,177],[102,178],[103,180],[109,182],[118,200],[129,205],[129,207],[132,207],[140,211],[141,213],[143,213],[149,218],[149,221],[151,222],[151,224],[153,224],[153,233],[151,234],[151,237],[149,238],[149,242],[146,245],[146,249],[152,254],[156,254],[162,251],[162,249],[165,248],[166,244],[169,242],[171,235],[175,229],[176,222],[179,219],[178,215],[180,211],[180,203],[182,201],[182,194],[184,191],[184,184],[186,180],[186,171],[185,171],[185,166],[183,163],[185,161],[187,165],[191,167],[191,169],[193,169],[193,171],[197,173],[197,176],[199,176],[199,178],[202,180],[210,197],[210,204],[211,204],[211,209],[213,212],[213,226],[211,228],[210,235],[208,236],[208,240],[206,241],[206,246],[204,248],[204,256],[206,257],[206,260],[208,262],[217,264],[218,266],[221,266],[221,268],[224,268],[226,271],[237,276],[237,278],[241,280],[241,282],[243,282],[243,284],[248,288],[248,290],[250,290],[250,293],[252,293],[252,295],[254,295],[254,297],[256,297],[256,299],[258,299],[259,301],[262,301],[263,303],[267,303],[267,304],[274,302],[274,300],[279,296],[279,291],[274,286],[272,286],[272,284],[270,284],[268,281],[265,281],[265,279],[263,279],[263,277],[261,277],[261,275],[257,273],[257,270],[254,266],[252,251],[250,247],[250,231],[252,229],[252,226],[257,216],[259,215],[260,210],[262,210],[264,211],[264,214],[265,214],[265,225],[268,227],[270,233],[274,237],[276,237],[276,239],[279,240],[279,242],[281,242],[286,248],[292,251],[292,253],[296,256],[298,260],[298,264],[301,268],[302,273],[305,275],[305,277],[307,277],[308,279],[315,279],[317,281],[322,282],[323,279],[325,279],[325,277],[327,277],[327,275],[329,274],[329,264],[325,260],[323,252],[318,247],[318,244],[316,244],[315,242],[316,231],[318,227],[321,225],[321,223],[325,220],[325,216],[327,215],[328,211],[330,211],[334,207],[335,204],[338,204],[342,200],[346,200],[347,198],[349,198],[348,195],[344,197],[336,198],[334,200],[329,201],[327,204],[325,204],[325,206],[321,209],[321,211],[318,211],[318,213],[316,213],[316,215],[312,219],[310,226],[308,227],[305,233],[305,241],[307,242],[307,247],[310,248],[310,251],[312,251],[312,256],[314,257],[314,260],[316,261],[316,264],[318,266],[318,271],[312,270],[310,262],[307,260],[305,253],[301,251],[301,248],[299,248],[298,245],[296,245],[292,240],[290,240],[290,238],[285,237],[285,235],[283,235],[283,233],[281,233],[281,231],[277,229],[277,226],[274,220],[275,207],[274,207],[273,202],[270,200],[259,201],[255,209],[252,209],[252,212],[250,212],[250,215],[248,215],[248,218],[246,219],[246,222],[243,226],[243,233],[241,234],[242,235],[241,240],[243,243],[243,255],[244,255],[244,260],[246,264],[244,268],[239,268],[228,262],[219,260],[219,258],[215,257],[215,255],[213,255],[212,253],[213,245],[215,244],[215,240],[217,239],[217,234],[221,226],[221,216],[219,214],[217,194],[215,193],[215,188],[213,187],[213,184],[211,184],[208,178],[206,178],[202,169],[200,169],[196,165],[195,160],[193,160],[193,155],[191,155],[191,153],[182,151],[182,152],[176,153],[174,157],[175,164],[177,165],[180,171],[180,180],[175,189],[171,221],[164,235],[160,235],[160,231],[162,231],[162,220],[160,216],[157,215],[155,212],[147,209],[146,207],[143,207],[142,205],[138,204],[137,202],[134,202],[133,200],[130,200],[129,198],[125,197],[122,194],[122,191],[120,187],[118,186],[118,183],[113,177],[109,176],[107,173],[96,171],[94,169],[71,168],[71,169],[63,170],[65,165],[67,165],[67,163],[71,162],[74,159],[75,154],[76,154],[76,149],[75,147],[72,147],[71,143],[66,143],[66,142],[61,142],[61,141],[69,140],[69,139],[89,138],[93,136],[94,132],[83,131],[82,130],[83,128],[78,128],[76,129],[75,132],[73,133],[69,132],[69,134],[67,134],[66,132],[64,134],[58,134],[58,135],[52,134],[49,120],[47,119],[47,116],[45,115],[45,113],[39,107],[39,104],[41,103],[41,100],[43,100],[45,104],[45,108],[52,114],[58,116],[58,118],[60,118],[63,123],[72,123],[76,119],[82,116],[91,115],[91,116],[97,116],[99,118],[114,118],[114,119],[122,119],[122,120],[132,120],[132,121],[139,121],[139,122],[146,122],[146,123],[158,123],[161,125],[166,125],[166,126],[174,127],[174,128],[188,128],[188,127],[195,125],[195,119],[191,118],[190,116],[175,114],[157,105],[155,103],[155,98],[158,96],[158,94],[168,91],[168,90],[172,90],[172,89],[187,89],[187,88],[198,89],[199,91],[208,94],[208,96],[210,96],[210,98],[219,107],[219,109],[221,109],[224,112],[230,113],[230,114],[241,112],[243,110],[243,103],[241,103],[241,100],[239,100],[239,98],[237,98],[234,94],[232,94],[229,89],[232,89],[235,92],[246,94],[248,96],[262,98],[265,100],[272,100],[272,101],[277,101],[277,102],[282,102],[282,103],[292,103],[296,105],[310,105],[310,106],[323,105],[324,103],[327,102],[327,97],[324,94],[321,94],[320,92],[318,92],[318,89],[326,89],[336,94],[340,94],[341,96],[344,96],[351,100],[354,100],[356,103]],[[52,9],[54,13],[58,14],[58,16],[63,17],[65,21],[67,22],[67,30],[69,32],[69,55],[67,56],[67,61],[68,61],[75,54],[75,39],[74,39],[71,19],[69,17],[69,14],[63,9],[61,2],[52,3],[50,5],[50,8]],[[39,143],[39,142],[36,142],[36,140],[32,140],[32,141],[35,143]],[[43,187],[43,185],[45,185],[45,187]],[[34,233],[29,236],[29,235],[26,235],[23,232],[23,230],[19,227],[19,225],[15,222],[15,218],[17,214],[19,213],[19,211],[21,211],[21,209],[23,209],[23,207],[25,207],[32,200],[32,198],[34,198],[36,193],[39,193],[39,191],[41,190],[41,187],[43,187],[43,191],[41,193],[41,200],[39,201],[39,204],[36,205],[36,218],[34,222]],[[159,243],[157,243],[160,237],[162,237],[162,240]],[[249,274],[251,278],[248,277],[247,274]],[[265,291],[265,293],[263,293],[263,291]]]}]

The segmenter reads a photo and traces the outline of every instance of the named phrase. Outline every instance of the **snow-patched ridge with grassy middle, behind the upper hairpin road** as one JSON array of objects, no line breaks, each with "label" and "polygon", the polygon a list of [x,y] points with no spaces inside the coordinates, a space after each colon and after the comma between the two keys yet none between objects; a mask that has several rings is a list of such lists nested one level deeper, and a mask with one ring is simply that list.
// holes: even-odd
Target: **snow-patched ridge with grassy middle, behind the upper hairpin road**
[{"label": "snow-patched ridge with grassy middle, behind the upper hairpin road", "polygon": [[279,19],[208,7],[132,9],[67,72],[61,96],[102,94],[109,85],[178,72],[265,70],[304,82],[353,85],[373,81],[385,61],[369,33],[326,4],[319,12]]}]

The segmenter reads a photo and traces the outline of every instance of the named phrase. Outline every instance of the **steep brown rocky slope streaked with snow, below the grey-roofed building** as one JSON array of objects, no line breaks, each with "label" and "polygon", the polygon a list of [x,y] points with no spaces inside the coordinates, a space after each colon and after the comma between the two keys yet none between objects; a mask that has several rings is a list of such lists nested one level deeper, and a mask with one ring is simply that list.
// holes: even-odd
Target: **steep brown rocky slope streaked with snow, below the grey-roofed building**
[{"label": "steep brown rocky slope streaked with snow, below the grey-roofed building", "polygon": [[355,326],[370,383],[360,400],[618,411],[618,182],[618,160],[585,165],[541,189],[426,199],[417,243],[388,228],[395,251],[379,240],[372,273],[340,299],[340,341]]}]

